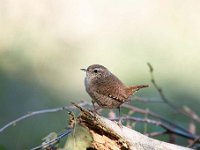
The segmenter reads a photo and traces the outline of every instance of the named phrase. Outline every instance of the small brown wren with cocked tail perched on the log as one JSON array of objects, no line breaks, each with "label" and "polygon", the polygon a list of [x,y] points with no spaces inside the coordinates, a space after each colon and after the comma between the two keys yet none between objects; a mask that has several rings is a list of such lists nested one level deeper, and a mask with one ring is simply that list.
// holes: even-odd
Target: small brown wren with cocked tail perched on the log
[{"label": "small brown wren with cocked tail perched on the log", "polygon": [[95,103],[103,108],[118,108],[120,119],[120,105],[128,101],[135,92],[148,85],[125,86],[106,67],[98,64],[81,69],[86,72],[85,88]]}]

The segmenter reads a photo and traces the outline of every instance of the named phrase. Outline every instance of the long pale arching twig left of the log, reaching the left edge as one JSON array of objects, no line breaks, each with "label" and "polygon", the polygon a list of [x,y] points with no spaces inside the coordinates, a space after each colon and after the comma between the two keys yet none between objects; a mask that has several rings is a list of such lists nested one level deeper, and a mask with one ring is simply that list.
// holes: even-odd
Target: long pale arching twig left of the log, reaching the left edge
[{"label": "long pale arching twig left of the log, reaching the left edge", "polygon": [[[88,102],[79,103],[80,106],[85,106],[87,104],[88,104]],[[6,124],[2,128],[0,128],[0,133],[3,132],[8,127],[16,125],[16,123],[18,123],[18,122],[20,122],[20,121],[22,121],[22,120],[24,120],[26,118],[29,118],[29,117],[32,117],[32,116],[35,116],[35,115],[39,115],[39,114],[54,113],[54,112],[59,112],[59,111],[63,111],[63,110],[71,111],[72,109],[75,109],[75,107],[73,105],[64,106],[64,107],[58,107],[58,108],[54,108],[54,109],[44,109],[44,110],[30,112],[30,113],[28,113],[28,114],[26,114],[24,116],[21,116],[21,117],[15,119],[15,120],[9,122],[8,124]]]}]

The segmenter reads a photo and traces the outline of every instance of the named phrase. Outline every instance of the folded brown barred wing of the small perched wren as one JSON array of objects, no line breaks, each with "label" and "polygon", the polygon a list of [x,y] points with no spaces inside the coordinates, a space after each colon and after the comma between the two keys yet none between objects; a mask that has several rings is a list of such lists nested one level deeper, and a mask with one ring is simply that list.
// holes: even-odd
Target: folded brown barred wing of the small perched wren
[{"label": "folded brown barred wing of the small perched wren", "polygon": [[128,98],[124,84],[114,75],[98,80],[95,85],[97,93],[108,96],[118,102],[124,102]]}]

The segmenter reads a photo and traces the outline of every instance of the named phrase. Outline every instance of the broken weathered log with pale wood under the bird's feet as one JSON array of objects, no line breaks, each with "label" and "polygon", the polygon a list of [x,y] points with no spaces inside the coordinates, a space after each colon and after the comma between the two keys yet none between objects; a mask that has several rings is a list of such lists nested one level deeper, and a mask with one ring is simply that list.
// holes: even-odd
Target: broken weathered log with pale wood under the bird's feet
[{"label": "broken weathered log with pale wood under the bird's feet", "polygon": [[[189,148],[162,142],[149,138],[137,131],[125,126],[118,126],[114,121],[79,107],[80,115],[77,123],[83,128],[84,133],[75,131],[73,140],[68,140],[66,148],[72,149],[70,142],[73,142],[73,149],[92,150],[189,150]],[[76,130],[76,129],[75,129]],[[79,129],[80,131],[80,129]],[[88,132],[88,133],[86,133]],[[88,137],[90,136],[90,137]],[[82,138],[81,138],[82,137]],[[76,140],[74,141],[74,138]],[[78,140],[79,139],[79,140]],[[79,144],[78,142],[85,144]],[[85,147],[84,147],[84,146]]]}]

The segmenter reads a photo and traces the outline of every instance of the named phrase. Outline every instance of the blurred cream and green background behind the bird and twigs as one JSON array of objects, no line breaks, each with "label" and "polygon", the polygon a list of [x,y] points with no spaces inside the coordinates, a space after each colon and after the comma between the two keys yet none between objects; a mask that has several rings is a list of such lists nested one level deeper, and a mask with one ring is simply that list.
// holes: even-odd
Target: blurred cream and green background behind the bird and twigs
[{"label": "blurred cream and green background behind the bird and twigs", "polygon": [[[0,127],[90,101],[80,68],[94,63],[131,85],[150,84],[150,62],[170,101],[200,114],[199,17],[198,0],[0,0]],[[160,99],[152,86],[137,95]],[[167,105],[135,105],[188,128],[189,119]],[[0,133],[0,149],[35,147],[66,126],[67,112],[29,118]]]}]

